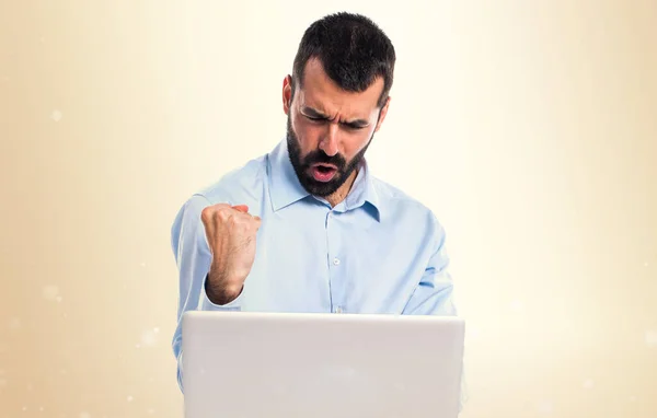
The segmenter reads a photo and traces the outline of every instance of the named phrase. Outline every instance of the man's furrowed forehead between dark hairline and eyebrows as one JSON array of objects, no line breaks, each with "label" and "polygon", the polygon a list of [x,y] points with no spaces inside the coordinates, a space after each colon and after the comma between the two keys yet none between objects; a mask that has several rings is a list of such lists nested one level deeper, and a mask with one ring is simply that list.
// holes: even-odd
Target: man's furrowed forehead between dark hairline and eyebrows
[{"label": "man's furrowed forehead between dark hairline and eyebrows", "polygon": [[341,89],[324,71],[322,63],[311,59],[303,72],[303,88],[299,91],[301,106],[310,106],[328,115],[344,118],[369,118],[378,109],[383,91],[383,79],[376,81],[364,92]]}]

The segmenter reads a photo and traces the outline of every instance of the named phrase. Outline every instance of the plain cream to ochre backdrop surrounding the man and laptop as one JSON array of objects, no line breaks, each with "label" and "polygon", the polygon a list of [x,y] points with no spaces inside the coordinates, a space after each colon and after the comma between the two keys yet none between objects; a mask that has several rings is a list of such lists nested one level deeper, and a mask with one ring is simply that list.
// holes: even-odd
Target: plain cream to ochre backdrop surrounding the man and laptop
[{"label": "plain cream to ochre backdrop surrounding the man and laptop", "polygon": [[657,417],[654,1],[5,0],[0,418],[182,416],[171,222],[337,10],[397,50],[368,156],[447,229],[462,416]]}]

